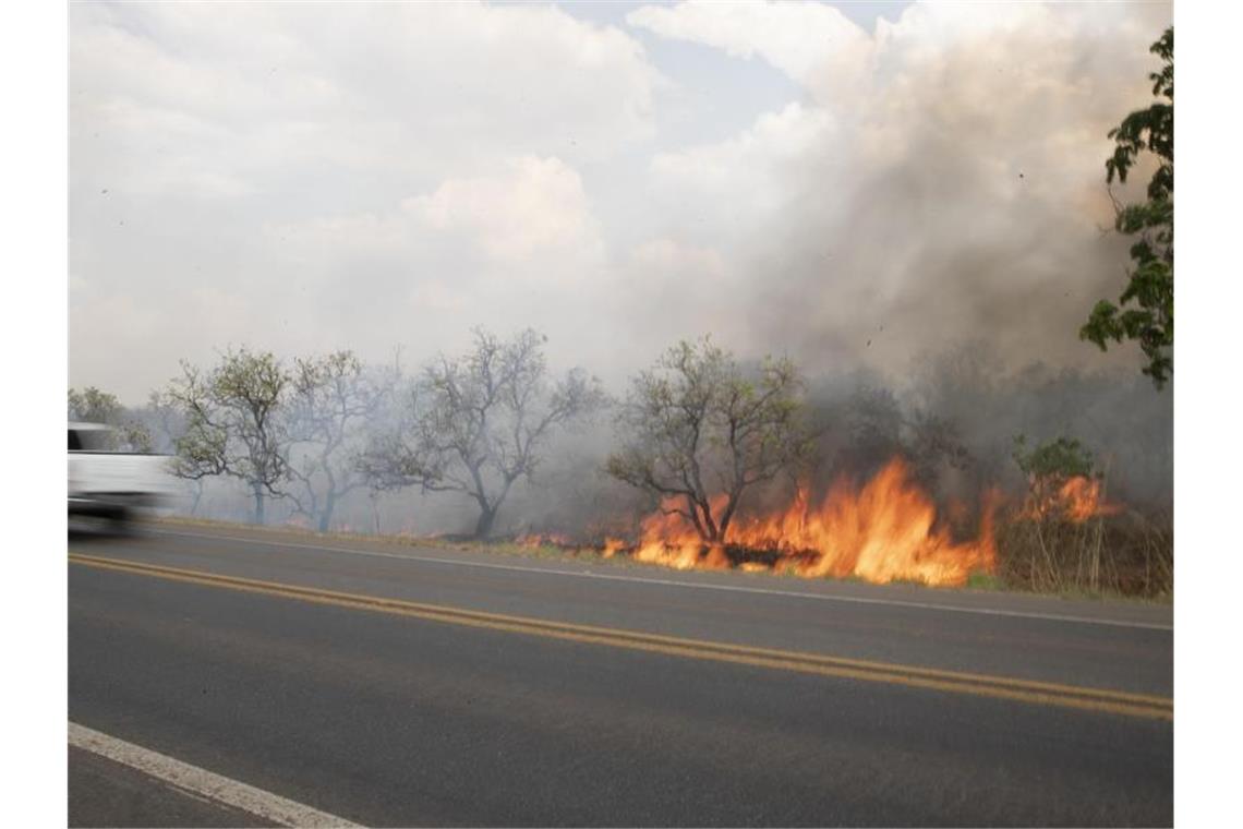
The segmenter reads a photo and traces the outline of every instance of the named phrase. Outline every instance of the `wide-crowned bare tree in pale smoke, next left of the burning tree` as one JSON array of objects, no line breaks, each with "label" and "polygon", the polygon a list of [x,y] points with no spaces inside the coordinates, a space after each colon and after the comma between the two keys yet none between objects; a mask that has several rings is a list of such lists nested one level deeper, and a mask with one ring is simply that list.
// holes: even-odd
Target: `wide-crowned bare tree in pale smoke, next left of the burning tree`
[{"label": "wide-crowned bare tree in pale smoke, next left of the burning tree", "polygon": [[546,337],[508,341],[476,329],[469,354],[440,355],[410,393],[403,428],[373,441],[363,466],[374,486],[461,492],[486,538],[518,479],[531,479],[553,433],[604,404],[595,378],[572,369],[549,382]]}]

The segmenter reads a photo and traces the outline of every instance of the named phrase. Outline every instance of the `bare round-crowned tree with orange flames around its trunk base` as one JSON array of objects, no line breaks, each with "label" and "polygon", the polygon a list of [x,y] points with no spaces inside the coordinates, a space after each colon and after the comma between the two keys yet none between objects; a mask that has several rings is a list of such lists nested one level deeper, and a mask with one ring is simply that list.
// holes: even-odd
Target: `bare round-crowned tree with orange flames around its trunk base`
[{"label": "bare round-crowned tree with orange flames around its trunk base", "polygon": [[664,508],[705,542],[723,542],[742,493],[810,451],[803,409],[791,360],[746,372],[706,337],[682,341],[633,379],[618,416],[624,445],[605,469],[672,503]]}]

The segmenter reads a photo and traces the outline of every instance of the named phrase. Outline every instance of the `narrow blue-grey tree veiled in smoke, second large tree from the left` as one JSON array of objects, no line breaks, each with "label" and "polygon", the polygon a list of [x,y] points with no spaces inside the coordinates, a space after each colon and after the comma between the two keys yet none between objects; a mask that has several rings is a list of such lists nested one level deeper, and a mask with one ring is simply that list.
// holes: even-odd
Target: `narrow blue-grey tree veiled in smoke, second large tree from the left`
[{"label": "narrow blue-grey tree veiled in smoke, second large tree from the left", "polygon": [[328,531],[341,500],[368,483],[358,464],[364,426],[390,394],[395,377],[395,370],[368,370],[349,350],[295,363],[288,472],[297,486],[285,493],[319,532]]}]

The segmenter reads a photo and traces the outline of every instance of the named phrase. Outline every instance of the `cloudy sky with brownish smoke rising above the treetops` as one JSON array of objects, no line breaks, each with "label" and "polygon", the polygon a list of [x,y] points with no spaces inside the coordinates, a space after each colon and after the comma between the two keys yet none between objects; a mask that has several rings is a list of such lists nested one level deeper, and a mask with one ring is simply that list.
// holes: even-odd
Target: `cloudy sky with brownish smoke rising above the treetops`
[{"label": "cloudy sky with brownish smoke rising above the treetops", "polygon": [[[70,6],[70,384],[534,327],[901,378],[1134,368],[1106,133],[1168,4]],[[1140,178],[1142,181],[1142,176]],[[1126,189],[1115,189],[1126,198]]]}]

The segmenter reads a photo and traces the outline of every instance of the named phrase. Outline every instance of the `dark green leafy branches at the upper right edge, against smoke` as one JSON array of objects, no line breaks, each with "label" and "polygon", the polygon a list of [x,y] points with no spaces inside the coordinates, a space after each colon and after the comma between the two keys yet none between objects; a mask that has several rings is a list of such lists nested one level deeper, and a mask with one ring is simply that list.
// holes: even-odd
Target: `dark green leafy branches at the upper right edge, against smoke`
[{"label": "dark green leafy branches at the upper right edge, against smoke", "polygon": [[1141,154],[1157,157],[1147,201],[1121,206],[1115,220],[1120,232],[1136,237],[1131,245],[1134,265],[1117,305],[1098,302],[1079,337],[1101,350],[1109,341],[1139,342],[1149,360],[1144,373],[1162,388],[1173,375],[1173,27],[1151,51],[1165,62],[1160,72],[1149,76],[1157,101],[1110,131],[1115,148],[1105,162],[1106,181],[1112,184],[1117,176],[1125,184]]}]

